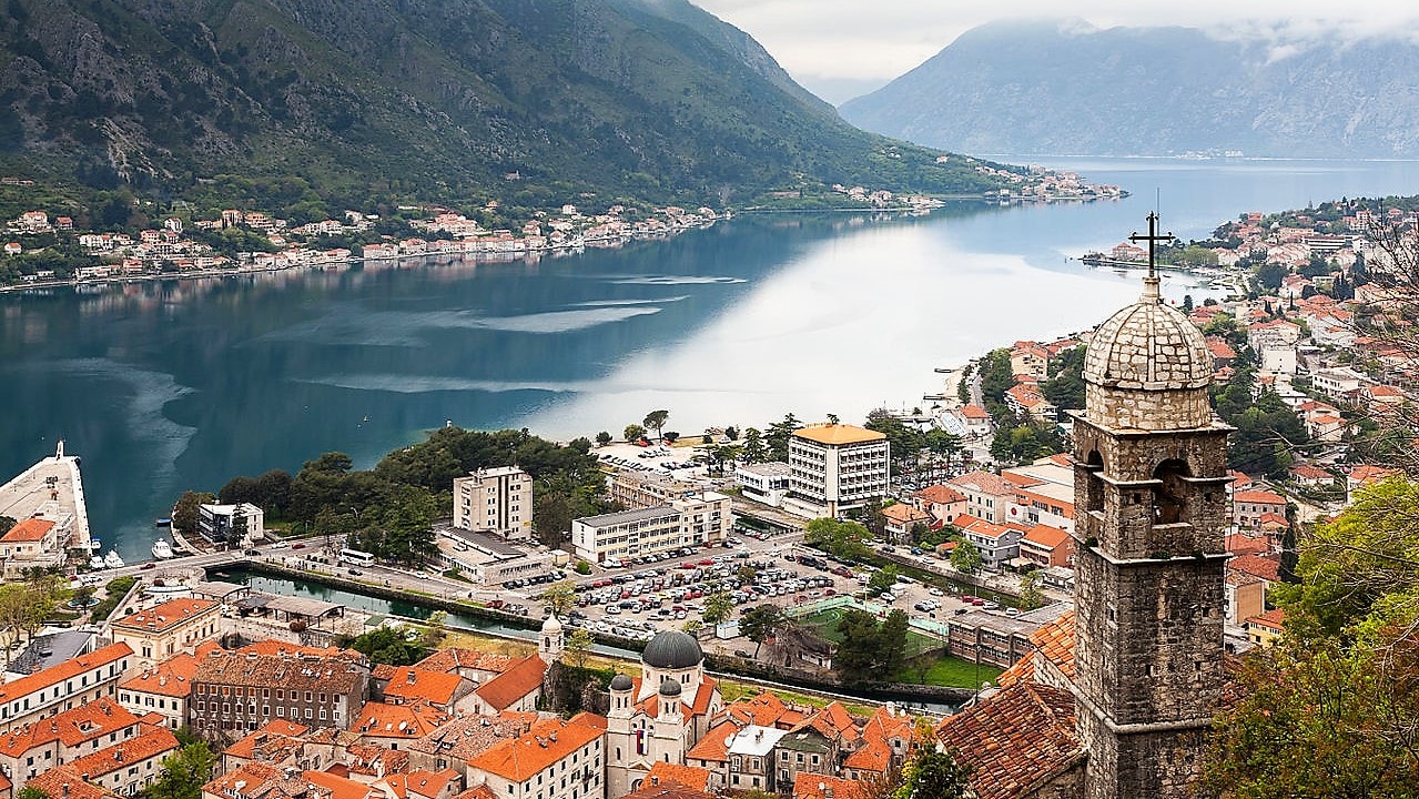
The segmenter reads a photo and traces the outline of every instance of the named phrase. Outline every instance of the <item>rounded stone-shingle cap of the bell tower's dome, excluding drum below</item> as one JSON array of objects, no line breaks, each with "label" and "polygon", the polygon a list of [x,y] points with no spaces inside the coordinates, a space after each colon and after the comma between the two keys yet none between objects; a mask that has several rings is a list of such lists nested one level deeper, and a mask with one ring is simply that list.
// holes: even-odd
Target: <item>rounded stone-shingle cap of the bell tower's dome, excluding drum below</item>
[{"label": "rounded stone-shingle cap of the bell tower's dome, excluding drum below", "polygon": [[1212,383],[1212,353],[1202,331],[1159,301],[1158,278],[1145,278],[1138,302],[1094,331],[1084,380],[1145,392],[1206,387]]}]

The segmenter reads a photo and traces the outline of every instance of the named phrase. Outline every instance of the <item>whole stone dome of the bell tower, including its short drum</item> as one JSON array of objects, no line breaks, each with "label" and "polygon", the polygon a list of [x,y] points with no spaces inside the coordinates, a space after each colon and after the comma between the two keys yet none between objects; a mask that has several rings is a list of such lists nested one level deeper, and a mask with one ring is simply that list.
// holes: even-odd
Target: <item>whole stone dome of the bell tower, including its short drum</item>
[{"label": "whole stone dome of the bell tower, including its short drum", "polygon": [[1138,302],[1094,331],[1084,356],[1090,419],[1120,429],[1182,430],[1212,420],[1212,353],[1182,312],[1162,304],[1158,278]]}]

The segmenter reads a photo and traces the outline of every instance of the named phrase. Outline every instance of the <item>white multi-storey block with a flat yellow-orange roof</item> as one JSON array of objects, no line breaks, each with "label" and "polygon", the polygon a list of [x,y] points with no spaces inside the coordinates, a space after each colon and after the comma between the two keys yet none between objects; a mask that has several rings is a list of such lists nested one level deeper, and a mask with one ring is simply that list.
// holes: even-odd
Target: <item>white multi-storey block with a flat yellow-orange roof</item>
[{"label": "white multi-storey block with a flat yellow-orange roof", "polygon": [[837,517],[884,497],[890,450],[887,436],[853,424],[795,430],[783,509],[803,518]]}]

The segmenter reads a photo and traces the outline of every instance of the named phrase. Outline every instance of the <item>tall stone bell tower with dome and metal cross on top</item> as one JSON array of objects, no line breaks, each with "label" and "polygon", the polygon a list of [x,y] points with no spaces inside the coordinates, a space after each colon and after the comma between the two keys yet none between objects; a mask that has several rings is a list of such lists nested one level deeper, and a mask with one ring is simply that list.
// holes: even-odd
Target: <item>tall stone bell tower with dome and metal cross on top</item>
[{"label": "tall stone bell tower with dome and metal cross on top", "polygon": [[1095,331],[1074,416],[1076,683],[1086,796],[1192,796],[1222,694],[1226,437],[1202,334],[1142,297]]}]

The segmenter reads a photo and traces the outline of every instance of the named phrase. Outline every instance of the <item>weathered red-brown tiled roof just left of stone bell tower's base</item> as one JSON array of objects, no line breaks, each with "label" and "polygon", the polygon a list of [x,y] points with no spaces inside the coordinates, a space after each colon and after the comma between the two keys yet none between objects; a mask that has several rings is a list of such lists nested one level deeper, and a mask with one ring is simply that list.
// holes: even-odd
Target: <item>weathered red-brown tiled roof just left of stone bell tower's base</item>
[{"label": "weathered red-brown tiled roof just left of stone bell tower's base", "polygon": [[1074,697],[1022,683],[948,715],[937,737],[972,768],[979,799],[1015,799],[1074,768],[1084,748],[1074,732]]}]

